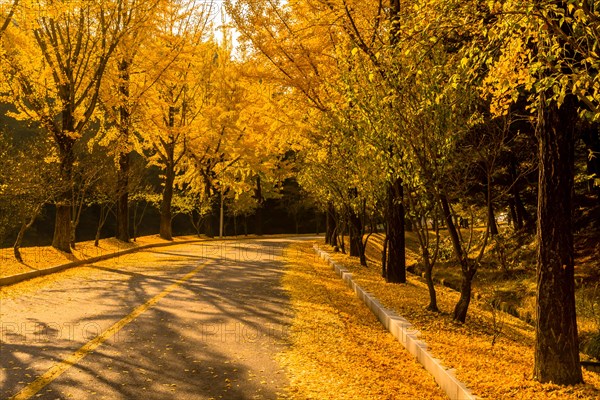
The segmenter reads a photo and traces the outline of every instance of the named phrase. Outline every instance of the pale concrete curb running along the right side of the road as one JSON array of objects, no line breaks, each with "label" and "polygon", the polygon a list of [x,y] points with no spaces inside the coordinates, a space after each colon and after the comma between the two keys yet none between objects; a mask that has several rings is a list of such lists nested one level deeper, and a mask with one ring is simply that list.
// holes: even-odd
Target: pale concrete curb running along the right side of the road
[{"label": "pale concrete curb running along the right side of the road", "polygon": [[397,315],[393,310],[386,309],[379,300],[371,293],[365,291],[362,287],[352,280],[352,273],[346,268],[341,267],[329,257],[327,252],[321,250],[318,245],[314,245],[315,252],[325,261],[327,261],[336,274],[346,283],[346,285],[356,293],[373,314],[379,319],[381,324],[412,354],[421,365],[429,372],[440,386],[440,388],[452,400],[475,400],[476,396],[471,394],[467,386],[456,378],[454,369],[444,367],[442,362],[434,358],[427,351],[427,344],[420,340],[421,333],[403,317]]}]

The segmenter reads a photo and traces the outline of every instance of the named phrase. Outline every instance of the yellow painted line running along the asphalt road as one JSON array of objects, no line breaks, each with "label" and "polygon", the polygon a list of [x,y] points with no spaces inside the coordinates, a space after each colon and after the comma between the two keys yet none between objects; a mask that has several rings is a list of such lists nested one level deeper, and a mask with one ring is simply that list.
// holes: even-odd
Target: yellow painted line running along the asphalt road
[{"label": "yellow painted line running along the asphalt road", "polygon": [[44,387],[50,384],[53,380],[58,378],[63,372],[67,371],[73,365],[77,364],[85,356],[87,356],[89,353],[91,353],[100,345],[102,345],[102,343],[106,342],[108,339],[113,337],[127,324],[139,317],[150,307],[158,303],[163,297],[169,295],[172,291],[181,286],[181,284],[183,284],[184,282],[192,278],[194,275],[196,275],[198,272],[200,272],[206,266],[207,263],[208,261],[205,261],[196,269],[187,273],[183,278],[180,278],[176,282],[169,285],[165,290],[148,300],[146,303],[134,308],[129,315],[116,322],[114,325],[102,332],[96,338],[84,344],[79,350],[75,351],[58,364],[54,364],[43,375],[40,375],[36,380],[31,382],[29,385],[25,386],[17,394],[11,397],[10,400],[25,400],[33,397],[36,393],[38,393],[40,390],[42,390]]}]

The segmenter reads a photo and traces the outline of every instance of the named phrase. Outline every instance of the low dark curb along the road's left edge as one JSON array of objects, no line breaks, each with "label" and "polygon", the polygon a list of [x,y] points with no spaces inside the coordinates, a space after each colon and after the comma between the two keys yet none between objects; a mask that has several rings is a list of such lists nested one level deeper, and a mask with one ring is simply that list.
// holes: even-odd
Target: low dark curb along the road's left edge
[{"label": "low dark curb along the road's left edge", "polygon": [[69,268],[80,267],[85,264],[93,264],[98,261],[104,261],[104,260],[108,260],[110,258],[115,258],[115,257],[123,256],[126,254],[135,253],[140,250],[146,250],[146,249],[151,249],[151,248],[155,248],[155,247],[176,246],[178,244],[190,244],[190,243],[205,242],[207,240],[208,239],[191,239],[191,240],[182,240],[179,242],[145,244],[145,245],[142,245],[139,247],[133,247],[131,249],[115,251],[112,253],[103,254],[101,256],[87,258],[85,260],[78,260],[78,261],[73,261],[73,262],[70,262],[67,264],[56,265],[56,266],[50,267],[50,268],[38,269],[35,271],[31,271],[31,272],[24,272],[22,274],[5,276],[3,278],[0,278],[0,286],[14,285],[15,283],[23,282],[28,279],[33,279],[33,278],[38,278],[40,276],[54,274],[56,272],[64,271]]}]

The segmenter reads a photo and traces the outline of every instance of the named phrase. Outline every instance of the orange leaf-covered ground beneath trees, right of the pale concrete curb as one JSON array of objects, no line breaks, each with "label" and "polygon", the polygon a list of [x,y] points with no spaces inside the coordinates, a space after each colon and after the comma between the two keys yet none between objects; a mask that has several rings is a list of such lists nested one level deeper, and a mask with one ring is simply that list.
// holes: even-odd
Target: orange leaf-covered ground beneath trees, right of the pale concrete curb
[{"label": "orange leaf-covered ground beneath trees, right of the pale concrete curb", "polygon": [[425,309],[428,292],[420,278],[409,276],[406,284],[388,284],[381,278],[377,263],[365,268],[344,254],[330,251],[330,255],[384,306],[396,310],[420,330],[430,352],[447,367],[455,368],[458,379],[473,394],[485,399],[600,398],[600,377],[586,370],[583,385],[561,387],[533,381],[534,330],[523,321],[505,313],[495,313],[494,317],[487,304],[472,301],[467,322],[454,323],[451,312],[458,300],[457,292],[437,286],[442,312],[432,313]]}]

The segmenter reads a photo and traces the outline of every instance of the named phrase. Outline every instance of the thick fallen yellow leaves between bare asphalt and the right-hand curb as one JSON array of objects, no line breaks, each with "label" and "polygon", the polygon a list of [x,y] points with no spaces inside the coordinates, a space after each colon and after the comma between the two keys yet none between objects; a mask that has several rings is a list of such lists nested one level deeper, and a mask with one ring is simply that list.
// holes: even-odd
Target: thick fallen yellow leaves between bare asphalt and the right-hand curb
[{"label": "thick fallen yellow leaves between bare asphalt and the right-hand curb", "polygon": [[280,354],[297,399],[442,399],[433,378],[314,254],[286,254],[284,287],[294,318]]}]

